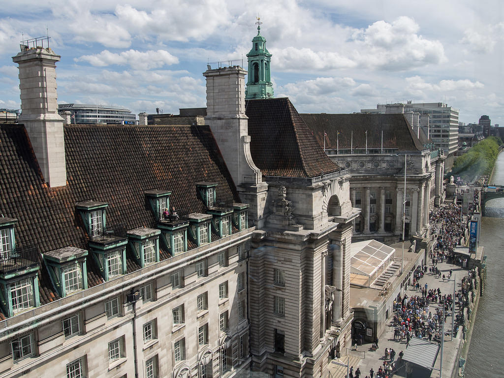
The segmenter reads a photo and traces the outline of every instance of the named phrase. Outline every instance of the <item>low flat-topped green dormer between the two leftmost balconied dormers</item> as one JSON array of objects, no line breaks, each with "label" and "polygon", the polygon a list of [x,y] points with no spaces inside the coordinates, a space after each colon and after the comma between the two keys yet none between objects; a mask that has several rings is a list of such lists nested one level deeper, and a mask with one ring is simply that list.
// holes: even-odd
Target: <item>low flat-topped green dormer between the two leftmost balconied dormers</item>
[{"label": "low flat-topped green dormer between the two leftmost balconied dormers", "polygon": [[42,255],[49,277],[61,297],[87,289],[86,257],[88,251],[77,247],[64,247]]}]

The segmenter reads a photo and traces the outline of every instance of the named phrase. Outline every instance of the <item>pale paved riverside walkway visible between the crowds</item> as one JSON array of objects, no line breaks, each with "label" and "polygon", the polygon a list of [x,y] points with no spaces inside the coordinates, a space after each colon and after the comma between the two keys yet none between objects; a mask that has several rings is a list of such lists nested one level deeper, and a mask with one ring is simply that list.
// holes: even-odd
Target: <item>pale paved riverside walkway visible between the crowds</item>
[{"label": "pale paved riverside walkway visible between the crowds", "polygon": [[[429,266],[432,266],[431,264]],[[467,276],[467,269],[462,269],[460,266],[456,266],[448,263],[438,263],[437,268],[441,271],[441,276],[445,274],[447,277],[449,275],[450,269],[453,269],[452,280],[456,279],[456,292],[460,289],[461,281],[463,277]],[[437,279],[436,276],[432,276],[428,273],[420,279],[420,287],[424,286],[425,283],[428,285],[428,289],[437,289],[441,290],[441,294],[453,294],[453,281],[443,282],[443,278]],[[408,297],[420,295],[420,291],[414,290],[413,286],[410,286],[410,289],[407,290]],[[429,307],[437,306],[437,303],[431,303]],[[457,304],[455,306],[455,310],[457,312]],[[431,310],[434,313],[435,310]],[[452,317],[451,311],[449,312],[447,321],[445,323],[445,334],[449,334],[452,329]],[[453,356],[457,354],[457,348],[459,347],[459,340],[454,338],[453,341],[450,341],[451,336],[445,336],[445,345],[444,345],[444,358],[443,358],[443,376],[449,376],[448,372],[452,371],[454,360]],[[393,348],[396,351],[396,360],[399,358],[399,352],[406,350],[406,339],[403,341],[394,340],[394,326],[393,326],[393,314],[391,315],[390,322],[386,330],[379,337],[378,349],[376,351],[371,351],[371,344],[363,344],[358,347],[358,351],[349,352],[350,357],[350,366],[353,366],[354,371],[357,367],[360,368],[361,376],[360,378],[365,378],[365,376],[369,376],[369,370],[371,367],[376,372],[384,362],[385,348]],[[346,364],[347,356],[343,355],[346,353],[342,351],[342,356],[340,361]],[[453,357],[453,358],[451,358]],[[436,360],[435,367],[439,367],[439,359],[440,352]],[[390,360],[389,360],[390,361]],[[329,378],[343,378],[346,376],[346,367],[339,366],[335,363],[329,364]],[[382,366],[383,367],[383,366]],[[399,370],[394,376],[405,376],[404,369],[403,371]],[[438,377],[439,371],[432,370],[431,377]]]}]

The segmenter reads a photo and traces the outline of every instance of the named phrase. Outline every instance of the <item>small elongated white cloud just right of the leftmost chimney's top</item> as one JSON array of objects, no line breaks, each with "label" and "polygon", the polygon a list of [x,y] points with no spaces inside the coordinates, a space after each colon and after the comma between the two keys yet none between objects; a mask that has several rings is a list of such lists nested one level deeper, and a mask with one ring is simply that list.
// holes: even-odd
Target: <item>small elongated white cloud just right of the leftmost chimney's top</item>
[{"label": "small elongated white cloud just right of the leftmost chimney's top", "polygon": [[137,51],[127,50],[120,53],[103,50],[99,54],[83,55],[75,61],[87,61],[92,66],[105,67],[111,65],[128,65],[134,69],[150,70],[178,63],[178,58],[165,50]]}]

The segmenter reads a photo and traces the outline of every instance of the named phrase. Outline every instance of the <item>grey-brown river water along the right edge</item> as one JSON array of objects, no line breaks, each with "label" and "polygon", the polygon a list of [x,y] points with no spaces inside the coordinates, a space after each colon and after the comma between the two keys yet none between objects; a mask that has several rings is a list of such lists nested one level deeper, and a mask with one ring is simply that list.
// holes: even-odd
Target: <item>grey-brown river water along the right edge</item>
[{"label": "grey-brown river water along the right edge", "polygon": [[[495,163],[493,185],[504,185],[504,153]],[[486,203],[480,245],[487,256],[487,279],[480,297],[465,367],[466,378],[504,377],[504,199]]]}]

